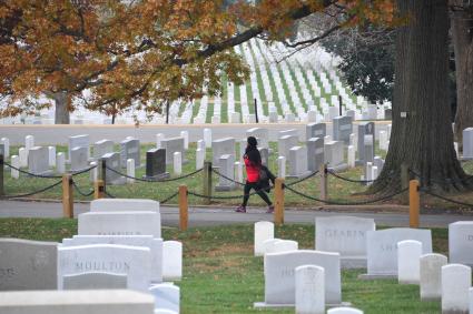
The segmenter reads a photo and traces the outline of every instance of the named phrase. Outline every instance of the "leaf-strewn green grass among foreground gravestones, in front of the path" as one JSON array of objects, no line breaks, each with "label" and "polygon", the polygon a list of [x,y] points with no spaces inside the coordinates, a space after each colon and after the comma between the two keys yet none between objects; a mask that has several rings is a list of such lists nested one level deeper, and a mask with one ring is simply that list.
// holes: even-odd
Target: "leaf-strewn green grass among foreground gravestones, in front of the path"
[{"label": "leaf-strewn green grass among foreground gravestones, in front of the path", "polygon": [[[0,219],[0,236],[58,241],[77,234],[77,220]],[[314,247],[314,225],[276,227],[275,236]],[[447,230],[432,230],[434,252],[447,254]],[[256,311],[264,300],[263,257],[253,256],[253,225],[198,227],[181,233],[164,229],[165,240],[184,244],[184,274],[178,283],[181,313],[294,313]],[[342,272],[342,300],[364,313],[438,313],[440,302],[421,302],[417,285],[395,280],[359,281],[363,271]]]}]

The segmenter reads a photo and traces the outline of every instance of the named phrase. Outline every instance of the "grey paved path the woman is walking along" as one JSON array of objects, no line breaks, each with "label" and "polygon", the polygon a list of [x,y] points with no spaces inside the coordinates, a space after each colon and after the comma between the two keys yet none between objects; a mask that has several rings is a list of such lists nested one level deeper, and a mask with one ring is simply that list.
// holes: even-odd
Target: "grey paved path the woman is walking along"
[{"label": "grey paved path the woman is walking along", "polygon": [[[75,204],[75,214],[80,214],[89,210],[89,204]],[[177,207],[161,206],[162,225],[177,226],[179,221]],[[61,203],[47,202],[19,202],[0,201],[0,217],[61,217]],[[308,223],[313,224],[317,216],[329,215],[353,215],[359,217],[373,217],[377,225],[386,226],[408,226],[408,215],[406,213],[365,213],[365,212],[341,212],[341,211],[295,211],[288,210],[285,213],[286,223]],[[273,215],[266,214],[260,209],[249,209],[248,213],[235,213],[231,209],[216,207],[190,207],[189,226],[211,226],[234,223],[254,223],[262,220],[273,220]],[[424,227],[446,227],[449,223],[455,221],[473,221],[469,215],[422,215],[421,226]]]}]

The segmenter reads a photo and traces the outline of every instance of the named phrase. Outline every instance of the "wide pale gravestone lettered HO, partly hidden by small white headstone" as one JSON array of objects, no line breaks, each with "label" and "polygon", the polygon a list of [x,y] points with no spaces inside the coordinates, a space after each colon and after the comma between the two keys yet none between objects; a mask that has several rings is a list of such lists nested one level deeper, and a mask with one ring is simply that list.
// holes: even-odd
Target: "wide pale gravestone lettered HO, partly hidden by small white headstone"
[{"label": "wide pale gravestone lettered HO, partly hidden by small white headstone", "polygon": [[255,307],[294,306],[295,269],[303,265],[316,265],[325,270],[325,302],[341,304],[339,254],[300,250],[265,255],[265,302],[255,303]]}]

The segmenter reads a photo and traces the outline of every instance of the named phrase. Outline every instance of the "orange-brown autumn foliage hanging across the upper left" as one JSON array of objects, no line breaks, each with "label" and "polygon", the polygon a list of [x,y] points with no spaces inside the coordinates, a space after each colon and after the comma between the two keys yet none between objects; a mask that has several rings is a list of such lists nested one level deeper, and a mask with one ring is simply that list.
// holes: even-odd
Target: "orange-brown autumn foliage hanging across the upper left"
[{"label": "orange-brown autumn foliage hanging across the upper left", "polygon": [[248,68],[233,47],[284,39],[295,20],[331,10],[347,13],[344,27],[393,16],[391,0],[0,0],[0,117],[51,105],[41,95],[57,123],[77,105],[160,112],[218,92],[223,72],[242,83]]}]

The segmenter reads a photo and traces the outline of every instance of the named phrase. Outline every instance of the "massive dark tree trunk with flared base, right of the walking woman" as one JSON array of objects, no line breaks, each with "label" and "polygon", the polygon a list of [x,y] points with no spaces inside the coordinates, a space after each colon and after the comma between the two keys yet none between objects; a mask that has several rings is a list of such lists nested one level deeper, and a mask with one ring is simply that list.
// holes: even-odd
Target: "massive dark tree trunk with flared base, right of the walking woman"
[{"label": "massive dark tree trunk with flared base, right of the walking woman", "polygon": [[397,6],[410,20],[396,38],[390,150],[371,191],[398,191],[403,163],[422,176],[424,186],[449,190],[451,180],[462,189],[456,182],[465,174],[453,148],[449,105],[447,0],[398,0]]}]

